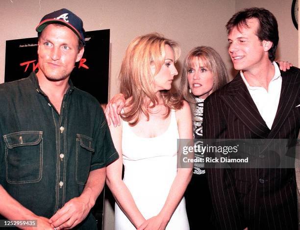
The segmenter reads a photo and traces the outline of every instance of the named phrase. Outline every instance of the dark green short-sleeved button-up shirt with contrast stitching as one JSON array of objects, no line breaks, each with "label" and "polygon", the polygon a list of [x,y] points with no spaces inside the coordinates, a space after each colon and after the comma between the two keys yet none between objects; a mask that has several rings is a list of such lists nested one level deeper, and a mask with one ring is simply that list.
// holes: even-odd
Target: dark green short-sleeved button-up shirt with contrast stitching
[{"label": "dark green short-sleeved button-up shirt with contrast stitching", "polygon": [[[60,114],[34,72],[0,84],[0,184],[47,218],[82,193],[90,171],[118,158],[99,102],[69,84]],[[97,229],[95,218],[78,227]]]}]

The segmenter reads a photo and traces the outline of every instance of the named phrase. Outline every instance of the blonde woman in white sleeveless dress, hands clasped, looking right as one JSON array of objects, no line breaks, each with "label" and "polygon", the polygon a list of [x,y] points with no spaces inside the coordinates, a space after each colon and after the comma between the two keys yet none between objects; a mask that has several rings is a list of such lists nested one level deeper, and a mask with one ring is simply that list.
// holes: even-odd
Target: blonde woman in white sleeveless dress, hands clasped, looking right
[{"label": "blonde woman in white sleeveless dress, hands clasped, looking right", "polygon": [[193,138],[191,110],[170,92],[179,55],[177,43],[156,33],[135,38],[126,50],[122,122],[110,125],[120,157],[106,168],[116,230],[189,230],[183,194],[192,165],[177,167],[177,139]]}]

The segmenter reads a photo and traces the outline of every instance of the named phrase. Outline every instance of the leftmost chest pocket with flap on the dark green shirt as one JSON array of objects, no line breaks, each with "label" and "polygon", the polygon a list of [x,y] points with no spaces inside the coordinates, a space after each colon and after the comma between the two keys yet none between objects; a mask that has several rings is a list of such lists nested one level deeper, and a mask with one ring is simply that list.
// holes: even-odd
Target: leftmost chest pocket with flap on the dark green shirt
[{"label": "leftmost chest pocket with flap on the dark green shirt", "polygon": [[6,180],[13,184],[42,179],[43,132],[20,131],[3,136]]}]

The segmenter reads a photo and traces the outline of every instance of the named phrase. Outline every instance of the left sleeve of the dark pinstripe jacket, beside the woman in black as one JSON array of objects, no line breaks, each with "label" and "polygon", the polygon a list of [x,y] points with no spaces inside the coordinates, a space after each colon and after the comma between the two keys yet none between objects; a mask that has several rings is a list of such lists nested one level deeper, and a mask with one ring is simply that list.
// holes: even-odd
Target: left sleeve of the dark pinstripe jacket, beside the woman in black
[{"label": "left sleeve of the dark pinstripe jacket, beside the woman in black", "polygon": [[[204,101],[204,139],[225,139],[228,108],[217,94]],[[218,229],[244,230],[247,225],[241,215],[231,169],[208,168],[207,179]]]}]

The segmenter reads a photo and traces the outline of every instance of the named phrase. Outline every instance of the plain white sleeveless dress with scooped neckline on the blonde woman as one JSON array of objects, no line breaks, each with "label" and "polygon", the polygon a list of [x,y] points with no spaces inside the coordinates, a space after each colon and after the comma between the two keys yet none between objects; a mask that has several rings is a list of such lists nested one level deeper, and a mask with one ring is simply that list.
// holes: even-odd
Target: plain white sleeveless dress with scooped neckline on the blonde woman
[{"label": "plain white sleeveless dress with scooped neckline on the blonde woman", "polygon": [[[173,110],[167,131],[153,138],[137,136],[123,121],[123,181],[145,219],[156,216],[167,200],[177,174],[177,138],[179,133]],[[115,230],[135,230],[118,204],[115,204]],[[184,198],[166,230],[189,230]]]}]

